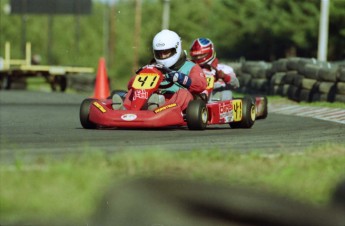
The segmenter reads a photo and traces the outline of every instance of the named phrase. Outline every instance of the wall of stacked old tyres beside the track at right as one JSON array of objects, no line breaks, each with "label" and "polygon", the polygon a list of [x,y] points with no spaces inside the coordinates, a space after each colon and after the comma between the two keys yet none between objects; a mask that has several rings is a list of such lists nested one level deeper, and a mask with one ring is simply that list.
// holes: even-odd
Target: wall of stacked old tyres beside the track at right
[{"label": "wall of stacked old tyres beside the track at right", "polygon": [[235,69],[242,93],[280,95],[297,102],[345,103],[345,61],[292,57],[243,62]]}]

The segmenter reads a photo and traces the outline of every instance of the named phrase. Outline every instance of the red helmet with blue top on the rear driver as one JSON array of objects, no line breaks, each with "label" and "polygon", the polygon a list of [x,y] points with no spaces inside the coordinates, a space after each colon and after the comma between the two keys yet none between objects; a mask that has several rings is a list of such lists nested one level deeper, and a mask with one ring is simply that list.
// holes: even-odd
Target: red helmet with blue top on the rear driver
[{"label": "red helmet with blue top on the rear driver", "polygon": [[211,64],[216,58],[216,51],[212,41],[208,38],[195,39],[190,47],[190,56],[192,60],[197,64]]}]

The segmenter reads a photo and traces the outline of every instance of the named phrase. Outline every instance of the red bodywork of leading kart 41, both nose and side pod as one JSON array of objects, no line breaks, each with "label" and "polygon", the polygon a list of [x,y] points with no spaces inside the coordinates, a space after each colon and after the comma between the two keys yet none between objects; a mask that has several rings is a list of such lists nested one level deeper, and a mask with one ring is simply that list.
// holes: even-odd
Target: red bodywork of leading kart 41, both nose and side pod
[{"label": "red bodywork of leading kart 41, both nose and side pod", "polygon": [[[140,71],[132,85],[132,100],[127,110],[113,110],[112,100],[94,100],[90,105],[89,120],[99,127],[159,128],[186,126],[184,112],[177,104],[166,104],[155,110],[141,110],[152,93],[156,92],[164,75],[155,67]],[[128,98],[128,97],[127,97]],[[260,105],[261,99],[256,100]],[[225,124],[242,120],[242,100],[207,103],[208,125]]]}]

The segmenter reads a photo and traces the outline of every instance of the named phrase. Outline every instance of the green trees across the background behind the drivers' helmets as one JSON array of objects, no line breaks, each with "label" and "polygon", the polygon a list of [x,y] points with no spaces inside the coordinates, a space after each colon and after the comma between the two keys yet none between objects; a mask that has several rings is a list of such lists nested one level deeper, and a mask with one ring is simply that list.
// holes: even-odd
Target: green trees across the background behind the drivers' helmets
[{"label": "green trees across the background behind the drivers' helmets", "polygon": [[[152,38],[162,28],[163,0],[95,0],[83,16],[11,15],[3,10],[9,2],[0,1],[1,50],[10,41],[12,55],[21,57],[25,32],[42,64],[97,68],[106,56],[115,87],[150,61]],[[208,37],[222,60],[274,61],[316,57],[319,17],[320,0],[170,0],[169,29],[187,51],[195,38]],[[330,0],[328,60],[344,58],[345,1]]]}]

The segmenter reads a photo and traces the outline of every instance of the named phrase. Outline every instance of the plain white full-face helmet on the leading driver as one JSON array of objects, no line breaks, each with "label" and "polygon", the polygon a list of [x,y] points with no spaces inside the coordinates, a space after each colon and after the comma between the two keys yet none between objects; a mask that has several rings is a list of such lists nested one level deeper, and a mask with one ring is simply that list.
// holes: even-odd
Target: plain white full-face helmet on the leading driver
[{"label": "plain white full-face helmet on the leading driver", "polygon": [[162,30],[153,38],[153,55],[158,64],[171,67],[182,53],[181,38],[173,31]]}]

